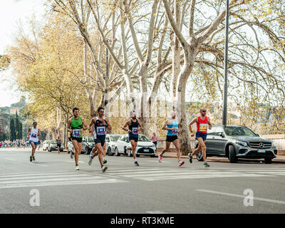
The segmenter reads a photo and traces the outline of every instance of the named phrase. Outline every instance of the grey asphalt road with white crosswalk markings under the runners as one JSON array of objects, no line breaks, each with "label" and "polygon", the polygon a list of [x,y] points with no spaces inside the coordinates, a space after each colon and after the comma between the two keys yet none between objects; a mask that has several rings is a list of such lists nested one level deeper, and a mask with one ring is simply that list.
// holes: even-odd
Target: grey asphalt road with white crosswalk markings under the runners
[{"label": "grey asphalt road with white crosswalk markings under the runners", "polygon": [[[65,152],[31,148],[1,148],[0,213],[285,213],[285,165],[196,160],[177,167],[177,160],[107,157],[102,173],[98,159],[88,165],[80,156],[80,171]],[[244,190],[253,201],[244,199]],[[39,193],[39,197],[33,191]],[[31,195],[30,195],[31,193]],[[39,206],[31,205],[38,202]],[[253,206],[245,206],[245,202]]]}]

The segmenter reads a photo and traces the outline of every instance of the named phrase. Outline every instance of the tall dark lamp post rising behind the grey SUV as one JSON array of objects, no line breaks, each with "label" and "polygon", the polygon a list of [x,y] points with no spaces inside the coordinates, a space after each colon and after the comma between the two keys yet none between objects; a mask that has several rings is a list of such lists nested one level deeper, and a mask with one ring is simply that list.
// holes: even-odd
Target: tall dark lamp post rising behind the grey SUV
[{"label": "tall dark lamp post rising behind the grey SUV", "polygon": [[226,40],[224,41],[224,99],[222,111],[222,124],[227,125],[227,58],[228,58],[228,42],[229,42],[229,0],[226,6]]}]

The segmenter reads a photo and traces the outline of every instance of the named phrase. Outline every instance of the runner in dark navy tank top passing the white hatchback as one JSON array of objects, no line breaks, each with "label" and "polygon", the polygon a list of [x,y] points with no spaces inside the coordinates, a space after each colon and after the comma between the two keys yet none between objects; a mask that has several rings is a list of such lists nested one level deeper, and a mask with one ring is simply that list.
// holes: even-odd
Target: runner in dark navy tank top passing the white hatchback
[{"label": "runner in dark navy tank top passing the white hatchback", "polygon": [[[128,129],[126,128],[128,126]],[[130,112],[130,120],[122,128],[123,130],[128,131],[129,140],[132,147],[128,147],[128,150],[132,150],[133,158],[135,161],[135,165],[140,166],[137,161],[137,157],[135,156],[135,150],[138,145],[138,132],[142,130],[142,125],[140,124],[140,120],[137,119],[137,115],[135,111]]]}]

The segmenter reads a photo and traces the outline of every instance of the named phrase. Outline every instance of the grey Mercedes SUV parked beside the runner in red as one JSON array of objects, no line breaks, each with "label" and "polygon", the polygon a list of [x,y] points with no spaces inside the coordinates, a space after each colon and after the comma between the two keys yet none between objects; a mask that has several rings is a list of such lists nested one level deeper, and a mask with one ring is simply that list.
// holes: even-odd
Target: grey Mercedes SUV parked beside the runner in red
[{"label": "grey Mercedes SUV parked beside the runner in red", "polygon": [[[205,144],[207,156],[228,157],[232,163],[237,162],[239,158],[264,158],[266,164],[270,164],[277,155],[273,141],[261,138],[244,126],[212,125],[212,129],[207,131]],[[197,153],[197,160],[203,160],[202,152]]]}]

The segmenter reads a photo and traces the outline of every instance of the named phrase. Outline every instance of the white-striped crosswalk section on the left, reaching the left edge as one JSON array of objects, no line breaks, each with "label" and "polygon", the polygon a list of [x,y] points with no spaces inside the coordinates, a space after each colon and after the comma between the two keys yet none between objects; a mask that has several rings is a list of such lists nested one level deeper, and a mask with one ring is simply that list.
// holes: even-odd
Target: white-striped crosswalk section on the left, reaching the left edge
[{"label": "white-striped crosswalk section on the left, reaching the left edge", "polygon": [[128,182],[104,175],[93,175],[86,172],[31,172],[0,175],[0,189],[14,187],[40,187],[55,185],[94,185]]}]

